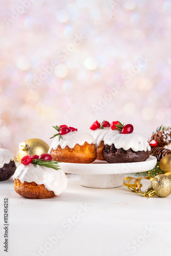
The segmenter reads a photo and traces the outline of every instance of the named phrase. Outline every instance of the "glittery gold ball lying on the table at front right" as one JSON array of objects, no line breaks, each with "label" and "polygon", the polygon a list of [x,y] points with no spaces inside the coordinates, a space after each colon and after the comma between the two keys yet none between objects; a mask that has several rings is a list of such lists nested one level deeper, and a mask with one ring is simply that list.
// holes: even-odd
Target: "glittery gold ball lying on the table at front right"
[{"label": "glittery gold ball lying on the table at front right", "polygon": [[171,178],[165,174],[155,176],[151,186],[158,197],[167,197],[171,194]]}]

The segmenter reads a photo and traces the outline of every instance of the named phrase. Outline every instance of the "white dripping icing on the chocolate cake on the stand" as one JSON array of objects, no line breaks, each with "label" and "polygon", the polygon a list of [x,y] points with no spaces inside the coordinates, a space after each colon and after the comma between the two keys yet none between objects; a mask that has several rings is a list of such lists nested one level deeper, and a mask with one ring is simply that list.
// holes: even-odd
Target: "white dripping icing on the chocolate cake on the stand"
[{"label": "white dripping icing on the chocolate cake on the stand", "polygon": [[123,148],[123,150],[129,150],[132,148],[133,151],[151,151],[151,146],[148,141],[138,133],[130,134],[114,134],[110,133],[104,137],[105,145],[114,144],[116,148]]}]

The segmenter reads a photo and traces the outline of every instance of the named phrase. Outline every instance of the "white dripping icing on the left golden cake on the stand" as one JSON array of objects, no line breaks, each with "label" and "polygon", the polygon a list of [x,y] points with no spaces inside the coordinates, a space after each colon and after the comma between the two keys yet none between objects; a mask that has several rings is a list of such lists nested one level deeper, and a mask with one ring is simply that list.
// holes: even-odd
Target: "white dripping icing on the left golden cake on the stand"
[{"label": "white dripping icing on the left golden cake on the stand", "polygon": [[84,142],[87,142],[88,144],[96,144],[93,136],[86,132],[70,132],[65,135],[62,135],[62,138],[63,139],[60,139],[60,141],[59,136],[56,136],[53,139],[48,151],[49,154],[51,154],[52,149],[57,150],[58,145],[60,145],[61,148],[65,148],[66,146],[68,146],[69,148],[73,148],[76,144],[82,146]]}]

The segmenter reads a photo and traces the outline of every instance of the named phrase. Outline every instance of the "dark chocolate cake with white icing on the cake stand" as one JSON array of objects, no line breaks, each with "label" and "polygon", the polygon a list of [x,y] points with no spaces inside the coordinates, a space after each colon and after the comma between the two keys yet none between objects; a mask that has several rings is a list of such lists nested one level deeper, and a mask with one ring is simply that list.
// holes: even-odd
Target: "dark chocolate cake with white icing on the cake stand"
[{"label": "dark chocolate cake with white icing on the cake stand", "polygon": [[137,133],[114,134],[104,137],[103,158],[109,163],[142,162],[149,158],[151,147]]}]

